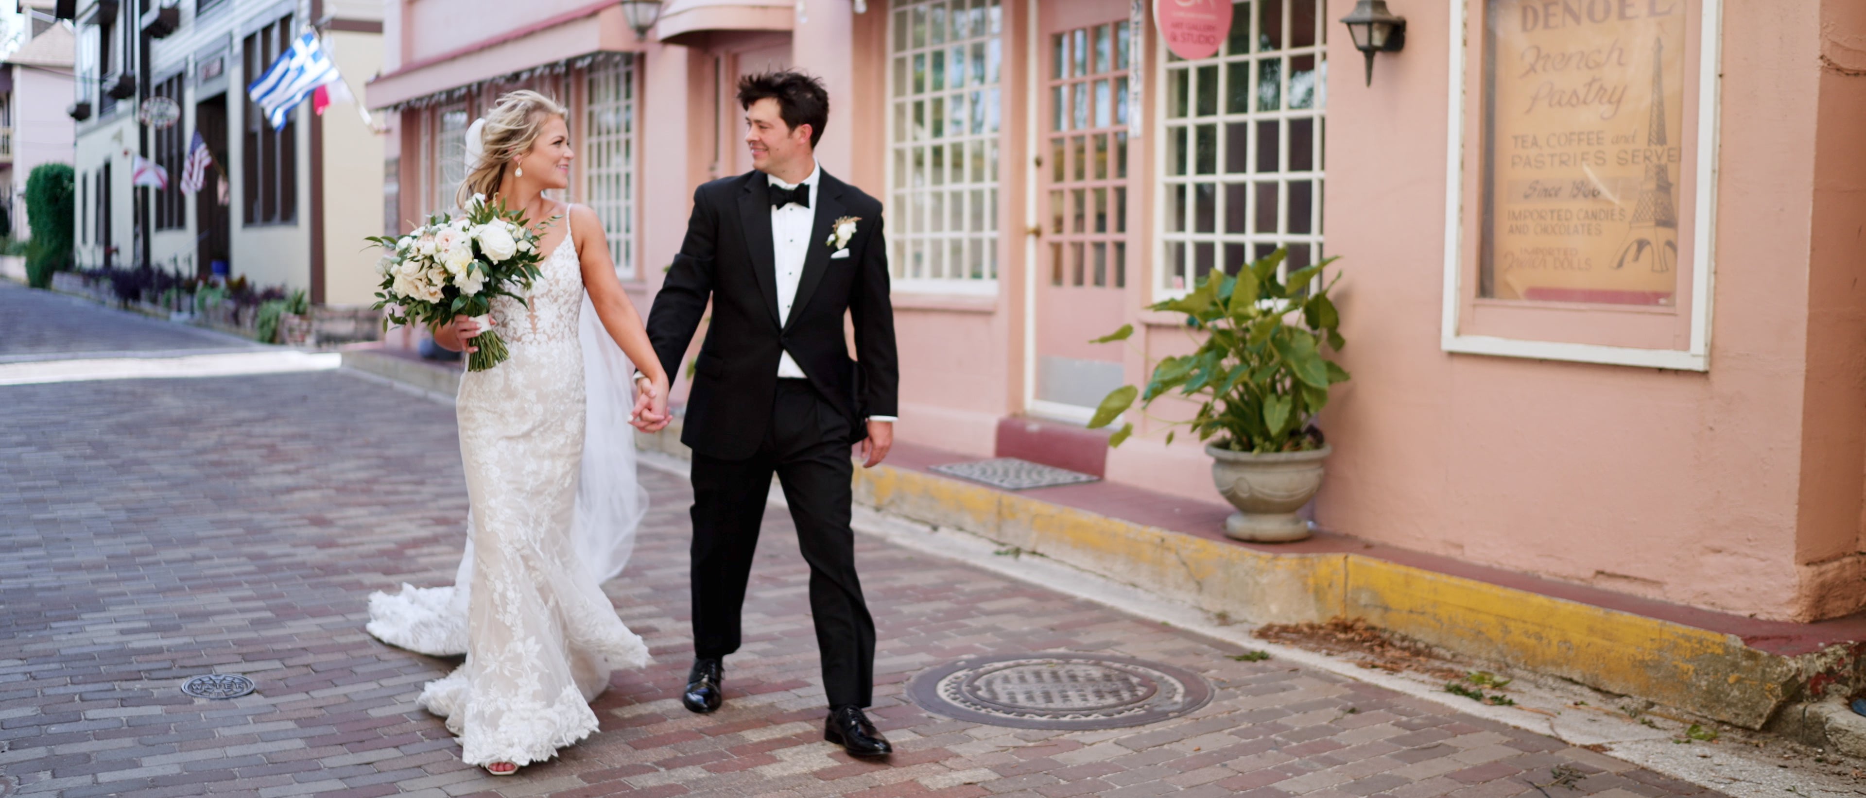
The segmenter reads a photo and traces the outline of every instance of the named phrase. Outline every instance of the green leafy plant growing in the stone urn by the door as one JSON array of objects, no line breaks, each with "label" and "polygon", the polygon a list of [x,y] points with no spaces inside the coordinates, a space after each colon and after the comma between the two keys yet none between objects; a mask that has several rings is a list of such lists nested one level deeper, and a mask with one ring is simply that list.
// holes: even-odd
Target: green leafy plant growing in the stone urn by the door
[{"label": "green leafy plant growing in the stone urn by the door", "polygon": [[[1312,267],[1276,280],[1288,250],[1276,250],[1256,263],[1245,265],[1235,276],[1211,272],[1185,296],[1148,306],[1155,311],[1185,313],[1192,334],[1204,334],[1198,351],[1163,358],[1153,367],[1146,388],[1116,388],[1095,408],[1090,429],[1101,429],[1140,401],[1146,408],[1155,399],[1177,390],[1179,395],[1200,401],[1191,421],[1166,421],[1168,427],[1187,425],[1198,440],[1217,438],[1217,446],[1232,451],[1304,451],[1319,449],[1321,431],[1316,414],[1329,405],[1329,386],[1347,380],[1347,371],[1325,358],[1323,347],[1340,351],[1340,311],[1329,298],[1336,280],[1319,283],[1329,257]],[[1133,324],[1097,337],[1092,343],[1125,341]],[[1135,433],[1123,423],[1108,438],[1121,446]],[[1177,431],[1168,429],[1166,442]]]}]

